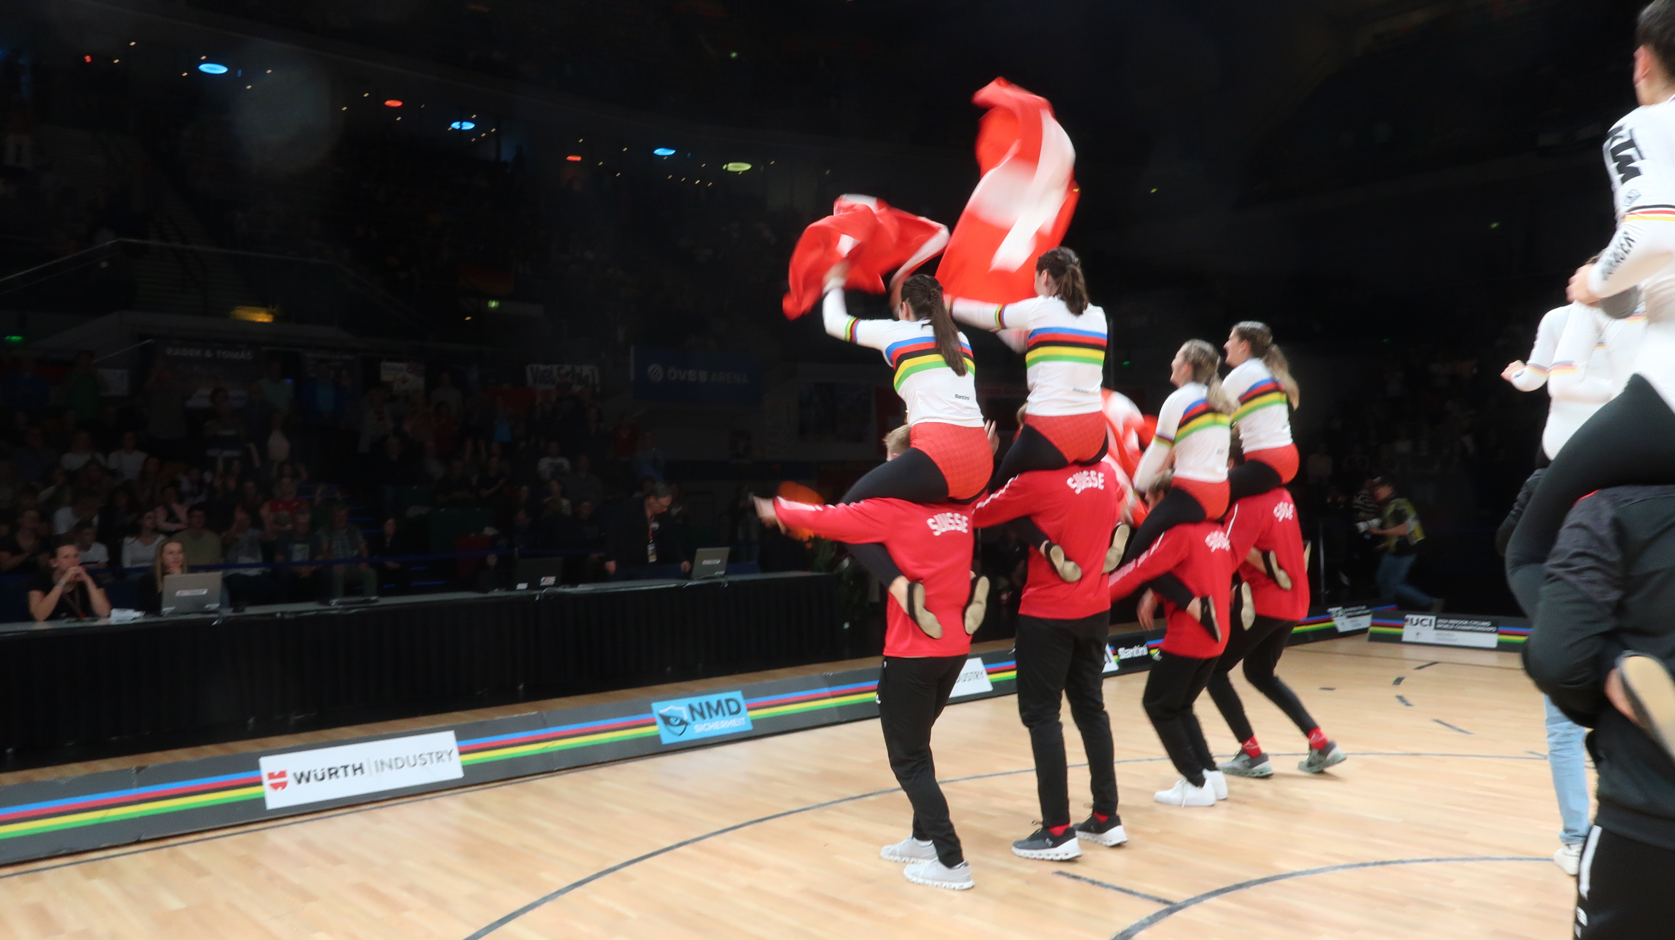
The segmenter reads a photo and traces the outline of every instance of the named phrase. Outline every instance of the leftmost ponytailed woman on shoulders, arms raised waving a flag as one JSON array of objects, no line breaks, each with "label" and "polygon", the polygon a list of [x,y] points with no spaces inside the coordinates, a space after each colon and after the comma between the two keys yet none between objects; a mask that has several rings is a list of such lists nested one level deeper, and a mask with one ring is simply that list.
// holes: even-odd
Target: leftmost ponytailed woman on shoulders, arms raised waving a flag
[{"label": "leftmost ponytailed woman on shoulders, arms raised waving a flag", "polygon": [[[843,503],[970,503],[988,484],[995,454],[977,405],[972,347],[948,315],[941,285],[930,275],[913,275],[901,283],[894,320],[861,320],[844,307],[846,275],[846,265],[838,265],[826,276],[821,308],[826,332],[884,354],[884,362],[896,370],[896,394],[908,409],[910,446],[856,481]],[[925,607],[925,586],[901,573],[883,543],[851,545],[849,553],[889,588],[921,630],[941,637],[941,623]],[[987,595],[987,590],[988,581],[980,578],[978,593]],[[983,600],[987,597],[977,598]],[[975,630],[968,622],[966,632]]]}]

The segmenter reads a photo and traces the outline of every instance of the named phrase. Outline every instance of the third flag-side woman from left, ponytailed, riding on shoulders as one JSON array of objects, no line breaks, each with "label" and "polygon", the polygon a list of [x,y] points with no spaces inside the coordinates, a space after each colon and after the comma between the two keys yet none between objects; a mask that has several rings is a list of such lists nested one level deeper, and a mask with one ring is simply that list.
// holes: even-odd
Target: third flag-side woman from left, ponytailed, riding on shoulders
[{"label": "third flag-side woman from left, ponytailed, riding on shoulders", "polygon": [[[1228,511],[1228,449],[1231,432],[1228,416],[1236,409],[1216,370],[1221,355],[1204,340],[1186,340],[1169,364],[1174,392],[1157,412],[1157,432],[1134,471],[1134,488],[1149,491],[1172,464],[1169,493],[1152,506],[1141,528],[1122,550],[1122,565],[1139,558],[1164,531],[1186,523],[1219,519]],[[1171,602],[1188,607],[1189,598],[1164,591]],[[1214,607],[1201,602],[1209,617],[1204,627],[1221,638],[1214,623]]]}]

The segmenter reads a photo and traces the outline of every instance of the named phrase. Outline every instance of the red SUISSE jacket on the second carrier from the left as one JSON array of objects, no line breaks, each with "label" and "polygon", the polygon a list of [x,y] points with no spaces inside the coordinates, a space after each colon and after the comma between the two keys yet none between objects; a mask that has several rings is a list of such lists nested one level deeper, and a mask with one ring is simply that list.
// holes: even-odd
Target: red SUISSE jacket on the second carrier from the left
[{"label": "red SUISSE jacket on the second carrier from the left", "polygon": [[1049,620],[1080,620],[1111,610],[1111,591],[1099,581],[1117,528],[1117,499],[1122,488],[1106,462],[1055,471],[1028,471],[1007,481],[977,504],[977,528],[998,526],[1030,516],[1042,533],[1082,566],[1082,580],[1070,583],[1054,571],[1037,546],[1030,546],[1030,575],[1023,585],[1018,613]]}]

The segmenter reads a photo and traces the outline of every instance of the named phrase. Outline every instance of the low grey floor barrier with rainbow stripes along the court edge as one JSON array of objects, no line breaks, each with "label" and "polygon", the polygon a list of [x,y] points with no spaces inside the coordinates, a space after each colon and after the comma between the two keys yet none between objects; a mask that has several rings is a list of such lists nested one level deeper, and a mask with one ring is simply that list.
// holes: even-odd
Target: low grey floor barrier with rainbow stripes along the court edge
[{"label": "low grey floor barrier with rainbow stripes along the court edge", "polygon": [[[1293,633],[1293,643],[1330,638],[1343,633],[1343,625],[1310,618]],[[1141,672],[1151,667],[1162,642],[1162,632],[1119,633],[1111,637],[1111,660],[1106,675]],[[973,657],[978,659],[978,657]],[[951,700],[965,702],[993,695],[1010,695],[1017,682],[1017,662],[1010,650],[980,657],[982,669],[968,664]],[[581,705],[548,712],[529,712],[477,722],[439,726],[400,734],[322,742],[313,747],[251,751],[198,761],[151,764],[121,771],[59,777],[0,788],[0,865],[37,858],[72,855],[97,848],[146,839],[179,836],[204,829],[240,826],[318,813],[363,803],[375,803],[417,793],[494,782],[620,761],[665,751],[680,751],[878,717],[878,669],[827,672],[742,684],[692,694],[692,707],[700,699],[725,705],[737,702],[730,720],[735,731],[693,732],[692,739],[660,732],[662,710],[682,704],[633,699],[600,705]],[[730,705],[729,705],[730,707]],[[747,719],[747,720],[740,720]],[[273,761],[307,759],[322,749],[345,749],[342,761],[365,762],[355,749],[368,754],[377,746],[399,747],[404,739],[451,732],[456,742],[447,756],[457,764],[457,776],[412,786],[379,788],[350,796],[337,796],[290,806],[271,806],[276,793]],[[270,772],[263,772],[263,759]],[[283,774],[278,774],[283,777]],[[298,781],[291,774],[291,781]],[[283,786],[283,784],[281,784]],[[295,791],[293,791],[295,794]]]}]

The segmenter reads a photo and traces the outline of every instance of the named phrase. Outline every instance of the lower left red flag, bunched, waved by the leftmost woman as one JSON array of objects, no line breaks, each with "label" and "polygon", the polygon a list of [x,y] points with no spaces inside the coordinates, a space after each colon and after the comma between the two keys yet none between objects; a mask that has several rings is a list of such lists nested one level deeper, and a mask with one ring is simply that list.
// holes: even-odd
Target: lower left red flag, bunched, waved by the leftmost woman
[{"label": "lower left red flag, bunched, waved by the leftmost woman", "polygon": [[811,225],[791,253],[791,293],[782,308],[796,320],[814,308],[826,290],[826,273],[849,261],[844,287],[884,293],[884,275],[894,288],[915,268],[948,245],[948,226],[891,208],[873,196],[839,196],[832,214]]}]

